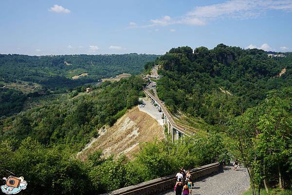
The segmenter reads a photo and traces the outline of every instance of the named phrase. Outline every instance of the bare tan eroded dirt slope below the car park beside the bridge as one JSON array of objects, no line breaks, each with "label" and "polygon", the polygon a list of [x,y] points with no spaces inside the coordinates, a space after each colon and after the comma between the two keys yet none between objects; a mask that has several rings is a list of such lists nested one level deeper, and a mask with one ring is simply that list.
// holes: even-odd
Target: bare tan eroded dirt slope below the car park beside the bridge
[{"label": "bare tan eroded dirt slope below the car park beside the bridge", "polygon": [[139,150],[139,143],[164,139],[163,127],[148,114],[139,111],[138,107],[129,110],[113,126],[99,129],[100,136],[90,142],[78,158],[86,160],[95,150],[103,150],[105,157],[114,154],[126,154],[133,159]]}]

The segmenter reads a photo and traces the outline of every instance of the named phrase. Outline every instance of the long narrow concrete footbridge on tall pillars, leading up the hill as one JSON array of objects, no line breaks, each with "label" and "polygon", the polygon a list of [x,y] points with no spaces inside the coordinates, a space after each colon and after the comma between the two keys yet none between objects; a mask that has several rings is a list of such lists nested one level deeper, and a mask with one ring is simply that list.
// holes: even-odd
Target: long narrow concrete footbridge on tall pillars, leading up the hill
[{"label": "long narrow concrete footbridge on tall pillars, leading up the hill", "polygon": [[160,101],[157,95],[152,94],[148,89],[144,89],[147,97],[151,98],[152,101],[155,102],[157,106],[161,109],[161,116],[164,116],[163,123],[167,125],[167,133],[171,134],[172,142],[179,140],[183,136],[190,137],[192,133],[188,132],[185,128],[179,126],[173,121],[171,114],[168,112],[167,108]]}]

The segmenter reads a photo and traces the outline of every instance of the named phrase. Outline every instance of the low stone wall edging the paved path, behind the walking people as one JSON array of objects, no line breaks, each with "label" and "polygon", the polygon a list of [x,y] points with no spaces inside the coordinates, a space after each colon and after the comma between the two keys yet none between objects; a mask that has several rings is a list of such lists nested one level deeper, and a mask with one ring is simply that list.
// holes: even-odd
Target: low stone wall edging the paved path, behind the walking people
[{"label": "low stone wall edging the paved path, behind the walking people", "polygon": [[[191,169],[192,180],[206,177],[219,172],[219,163],[215,162],[198,168]],[[137,185],[121,188],[103,195],[157,195],[171,188],[176,183],[176,174],[166,177],[160,177]]]}]

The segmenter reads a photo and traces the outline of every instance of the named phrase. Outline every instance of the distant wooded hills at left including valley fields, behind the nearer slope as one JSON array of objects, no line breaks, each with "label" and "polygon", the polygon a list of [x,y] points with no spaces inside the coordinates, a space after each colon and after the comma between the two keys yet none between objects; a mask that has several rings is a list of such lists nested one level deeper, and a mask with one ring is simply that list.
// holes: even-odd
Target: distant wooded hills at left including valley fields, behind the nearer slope
[{"label": "distant wooded hills at left including valley fields, behind the nearer slope", "polygon": [[[73,88],[100,82],[102,78],[121,73],[139,74],[144,64],[158,55],[54,55],[29,56],[0,54],[0,117],[10,116],[23,109],[37,92],[68,93]],[[72,79],[73,76],[87,73]]]}]

